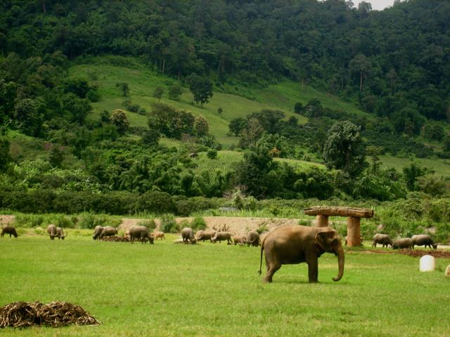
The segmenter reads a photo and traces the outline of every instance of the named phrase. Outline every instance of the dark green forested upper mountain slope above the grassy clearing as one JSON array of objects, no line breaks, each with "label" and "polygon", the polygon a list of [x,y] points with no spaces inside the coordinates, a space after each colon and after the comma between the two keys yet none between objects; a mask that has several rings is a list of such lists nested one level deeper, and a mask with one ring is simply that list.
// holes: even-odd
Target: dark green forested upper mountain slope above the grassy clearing
[{"label": "dark green forested upper mountain slope above the grassy clearing", "polygon": [[[289,77],[319,86],[402,131],[449,116],[450,4],[343,0],[2,1],[0,51],[140,56],[174,77],[220,84]],[[406,124],[406,125],[403,125]]]}]

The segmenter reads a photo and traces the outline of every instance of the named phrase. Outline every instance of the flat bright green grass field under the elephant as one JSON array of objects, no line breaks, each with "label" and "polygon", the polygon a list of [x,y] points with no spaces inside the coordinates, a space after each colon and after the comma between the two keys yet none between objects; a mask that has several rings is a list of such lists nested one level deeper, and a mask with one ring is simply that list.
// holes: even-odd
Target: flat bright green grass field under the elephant
[{"label": "flat bright green grass field under the elephant", "polygon": [[[319,284],[307,265],[284,265],[274,283],[257,275],[259,249],[165,242],[94,242],[69,230],[0,243],[0,305],[53,300],[81,305],[100,326],[4,329],[2,336],[449,336],[450,259],[418,272],[418,258],[346,253],[319,259]],[[382,249],[380,249],[382,250]]]}]

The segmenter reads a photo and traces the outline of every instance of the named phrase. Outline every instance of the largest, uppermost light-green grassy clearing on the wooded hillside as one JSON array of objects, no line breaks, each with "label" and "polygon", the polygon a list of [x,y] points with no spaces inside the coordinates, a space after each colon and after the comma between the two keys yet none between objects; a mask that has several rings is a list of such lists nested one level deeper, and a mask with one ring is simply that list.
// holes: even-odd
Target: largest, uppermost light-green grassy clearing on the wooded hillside
[{"label": "largest, uppermost light-green grassy clearing on the wooded hillside", "polygon": [[[312,98],[318,98],[324,107],[340,109],[354,114],[364,114],[350,103],[342,102],[333,95],[321,93],[309,86],[283,81],[279,84],[267,86],[266,88],[248,88],[252,92],[250,100],[240,95],[214,91],[210,103],[200,107],[193,104],[193,98],[188,88],[184,88],[184,93],[180,100],[169,100],[168,88],[176,84],[176,80],[161,74],[157,74],[140,64],[136,59],[129,58],[130,66],[115,66],[106,64],[108,58],[94,58],[90,64],[77,64],[69,69],[70,77],[81,77],[88,79],[91,84],[98,86],[101,94],[101,101],[94,103],[94,112],[91,118],[99,119],[103,110],[112,112],[115,109],[124,109],[122,101],[125,99],[120,92],[117,83],[127,83],[129,85],[129,97],[131,102],[139,104],[151,110],[153,103],[158,99],[153,97],[153,91],[157,86],[164,89],[160,103],[172,105],[179,109],[190,111],[195,115],[203,114],[210,124],[210,133],[216,136],[217,140],[224,145],[236,144],[236,138],[227,136],[229,122],[237,117],[245,118],[252,112],[259,112],[263,109],[281,110],[286,118],[296,117],[300,124],[307,123],[307,118],[293,112],[297,102],[306,104]],[[222,112],[219,113],[219,107]],[[147,126],[147,117],[127,112],[131,126]]]}]

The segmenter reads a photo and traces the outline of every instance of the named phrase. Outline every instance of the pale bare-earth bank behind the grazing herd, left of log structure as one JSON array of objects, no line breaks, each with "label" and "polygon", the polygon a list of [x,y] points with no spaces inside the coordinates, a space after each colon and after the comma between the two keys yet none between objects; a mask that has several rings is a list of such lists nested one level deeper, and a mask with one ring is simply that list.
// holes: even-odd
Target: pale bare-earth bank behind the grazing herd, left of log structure
[{"label": "pale bare-earth bank behind the grazing herd, left of log structure", "polygon": [[[191,222],[193,218],[176,218],[176,223],[183,220]],[[285,218],[242,218],[239,216],[205,216],[203,217],[208,228],[228,227],[232,234],[243,234],[250,230],[257,230],[258,227],[266,226],[267,230],[272,230],[281,225],[296,225],[298,219]],[[127,230],[132,225],[136,225],[142,219],[124,218],[119,226],[120,230]],[[160,220],[155,219],[155,223],[159,226]]]}]

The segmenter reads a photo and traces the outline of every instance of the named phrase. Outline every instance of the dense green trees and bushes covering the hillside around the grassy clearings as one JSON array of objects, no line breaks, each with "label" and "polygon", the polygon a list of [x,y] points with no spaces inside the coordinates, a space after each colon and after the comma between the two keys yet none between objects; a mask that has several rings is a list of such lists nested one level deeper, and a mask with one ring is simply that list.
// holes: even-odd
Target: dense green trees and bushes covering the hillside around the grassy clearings
[{"label": "dense green trees and bushes covering the hillside around the grassy clearings", "polygon": [[[450,157],[448,1],[395,1],[385,11],[343,0],[5,0],[0,6],[0,207],[130,213],[176,211],[188,198],[227,193],[244,207],[251,198],[385,201],[448,190],[430,168],[412,162],[403,171],[381,170],[378,159],[385,152]],[[208,94],[195,98],[202,105],[213,90],[289,79],[354,103],[373,119],[323,108],[319,100],[293,107],[306,126],[275,110],[249,112],[229,126],[240,137],[243,159],[229,170],[198,171],[186,154],[203,151],[214,160],[221,149],[205,119],[164,104],[148,112],[126,99],[124,109],[148,116],[148,128],[129,128],[121,110],[87,118],[91,103],[101,100],[98,87],[69,78],[68,68],[107,55],[139,58],[193,93],[206,81]],[[127,98],[127,84],[117,87]],[[30,153],[44,149],[46,156],[11,153],[16,133],[32,137],[20,138]],[[195,151],[160,146],[161,136],[188,136]],[[308,145],[328,170],[274,160],[308,159],[294,145]],[[164,199],[161,193],[178,199],[148,206]],[[115,201],[105,205],[98,194]]]}]

